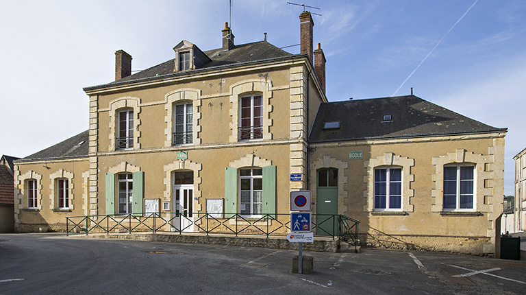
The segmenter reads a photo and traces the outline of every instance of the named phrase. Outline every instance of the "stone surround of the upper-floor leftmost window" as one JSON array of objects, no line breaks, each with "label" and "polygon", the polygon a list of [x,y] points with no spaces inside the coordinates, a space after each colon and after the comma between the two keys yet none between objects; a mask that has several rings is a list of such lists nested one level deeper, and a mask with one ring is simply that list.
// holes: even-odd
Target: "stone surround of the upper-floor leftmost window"
[{"label": "stone surround of the upper-floor leftmost window", "polygon": [[116,147],[115,139],[117,137],[117,124],[118,124],[118,112],[123,109],[132,109],[134,110],[134,150],[140,150],[140,98],[138,97],[120,97],[118,99],[112,100],[110,102],[110,147],[108,150],[114,151],[118,150]]}]

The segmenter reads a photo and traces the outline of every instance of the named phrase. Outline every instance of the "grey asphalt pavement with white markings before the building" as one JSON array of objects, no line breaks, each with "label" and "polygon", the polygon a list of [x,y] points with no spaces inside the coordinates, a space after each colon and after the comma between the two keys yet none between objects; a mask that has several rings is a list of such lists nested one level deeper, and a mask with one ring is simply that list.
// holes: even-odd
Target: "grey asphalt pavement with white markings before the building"
[{"label": "grey asphalt pavement with white markings before the building", "polygon": [[362,248],[297,250],[0,234],[0,294],[525,294],[526,261]]}]

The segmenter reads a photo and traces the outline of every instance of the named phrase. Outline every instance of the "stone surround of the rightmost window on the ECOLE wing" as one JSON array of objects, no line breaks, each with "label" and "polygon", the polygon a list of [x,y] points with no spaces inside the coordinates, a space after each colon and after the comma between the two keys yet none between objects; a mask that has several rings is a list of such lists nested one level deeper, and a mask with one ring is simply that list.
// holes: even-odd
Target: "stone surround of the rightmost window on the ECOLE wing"
[{"label": "stone surround of the rightmost window on the ECOLE wing", "polygon": [[[473,212],[482,211],[489,212],[490,200],[485,200],[486,196],[492,196],[492,185],[490,181],[493,176],[491,171],[486,171],[485,163],[490,161],[491,155],[484,156],[483,154],[475,154],[467,152],[464,149],[457,149],[455,152],[447,153],[444,156],[436,156],[433,158],[433,165],[435,172],[432,175],[432,180],[435,182],[434,189],[431,189],[431,198],[433,199],[431,205],[431,212],[442,213],[451,212],[443,209],[443,191],[444,191],[444,166],[448,165],[473,165],[474,168],[474,190],[473,190],[473,209],[461,210],[457,209],[455,212]],[[487,183],[486,183],[487,182]],[[487,203],[486,203],[487,202]]]}]

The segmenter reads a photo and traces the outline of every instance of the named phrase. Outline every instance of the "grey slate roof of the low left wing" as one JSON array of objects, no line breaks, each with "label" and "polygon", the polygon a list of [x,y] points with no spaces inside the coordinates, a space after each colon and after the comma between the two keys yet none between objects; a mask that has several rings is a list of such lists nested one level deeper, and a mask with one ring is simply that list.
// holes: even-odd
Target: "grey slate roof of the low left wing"
[{"label": "grey slate roof of the low left wing", "polygon": [[45,161],[60,158],[82,158],[88,156],[88,130],[75,135],[45,150],[36,152],[15,162]]}]

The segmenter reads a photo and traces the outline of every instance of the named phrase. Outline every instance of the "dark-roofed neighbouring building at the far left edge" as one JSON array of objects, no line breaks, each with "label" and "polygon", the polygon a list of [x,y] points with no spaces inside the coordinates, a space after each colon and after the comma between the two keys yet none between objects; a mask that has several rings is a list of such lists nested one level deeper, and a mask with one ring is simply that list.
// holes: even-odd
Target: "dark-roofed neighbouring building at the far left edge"
[{"label": "dark-roofed neighbouring building at the far left edge", "polygon": [[17,159],[5,155],[0,158],[0,233],[14,232],[13,161]]}]

